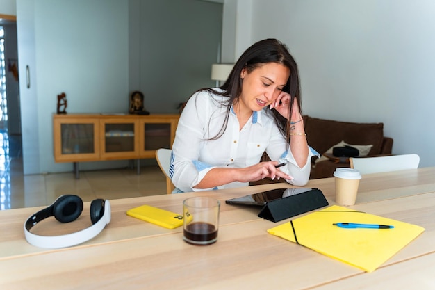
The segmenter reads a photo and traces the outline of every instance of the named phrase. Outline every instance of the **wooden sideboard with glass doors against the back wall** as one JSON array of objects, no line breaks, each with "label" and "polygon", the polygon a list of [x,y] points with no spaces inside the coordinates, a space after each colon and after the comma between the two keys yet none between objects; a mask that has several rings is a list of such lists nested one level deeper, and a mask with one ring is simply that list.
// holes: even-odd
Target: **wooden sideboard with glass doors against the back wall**
[{"label": "wooden sideboard with glass doors against the back wall", "polygon": [[[179,115],[54,114],[54,160],[77,163],[155,158],[171,148]],[[138,170],[139,170],[138,165]]]}]

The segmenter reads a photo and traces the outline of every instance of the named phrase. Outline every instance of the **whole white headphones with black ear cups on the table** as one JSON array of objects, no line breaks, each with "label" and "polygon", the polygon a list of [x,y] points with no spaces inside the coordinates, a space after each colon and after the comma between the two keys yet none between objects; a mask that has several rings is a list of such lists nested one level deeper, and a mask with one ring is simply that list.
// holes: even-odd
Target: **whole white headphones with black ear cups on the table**
[{"label": "whole white headphones with black ear cups on the table", "polygon": [[24,235],[28,243],[40,248],[66,248],[79,245],[97,236],[110,223],[110,202],[97,199],[90,204],[90,220],[92,225],[72,234],[61,236],[39,236],[30,229],[41,220],[54,216],[60,223],[76,220],[83,211],[83,201],[77,195],[61,195],[49,207],[31,215],[24,223]]}]

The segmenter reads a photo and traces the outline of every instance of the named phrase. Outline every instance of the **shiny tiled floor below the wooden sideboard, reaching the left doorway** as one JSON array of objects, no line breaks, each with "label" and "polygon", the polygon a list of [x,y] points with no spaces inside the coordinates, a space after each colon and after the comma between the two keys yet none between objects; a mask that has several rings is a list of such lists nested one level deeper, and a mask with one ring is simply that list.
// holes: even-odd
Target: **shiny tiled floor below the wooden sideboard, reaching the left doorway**
[{"label": "shiny tiled floor below the wooden sideboard, reaching the left doorway", "polygon": [[[83,201],[166,194],[165,175],[158,166],[80,172],[23,175],[21,150],[13,136],[0,132],[0,209],[44,206],[63,194],[79,195]],[[8,140],[10,139],[10,140]]]}]

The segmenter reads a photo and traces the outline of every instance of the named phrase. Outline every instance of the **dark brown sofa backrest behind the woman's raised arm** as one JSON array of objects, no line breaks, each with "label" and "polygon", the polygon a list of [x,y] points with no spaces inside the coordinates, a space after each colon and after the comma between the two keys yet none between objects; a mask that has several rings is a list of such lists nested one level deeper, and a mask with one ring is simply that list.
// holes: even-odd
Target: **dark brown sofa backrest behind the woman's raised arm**
[{"label": "dark brown sofa backrest behind the woman's raised arm", "polygon": [[383,123],[354,123],[304,116],[306,139],[311,147],[324,154],[342,140],[348,144],[373,145],[368,155],[381,153]]}]

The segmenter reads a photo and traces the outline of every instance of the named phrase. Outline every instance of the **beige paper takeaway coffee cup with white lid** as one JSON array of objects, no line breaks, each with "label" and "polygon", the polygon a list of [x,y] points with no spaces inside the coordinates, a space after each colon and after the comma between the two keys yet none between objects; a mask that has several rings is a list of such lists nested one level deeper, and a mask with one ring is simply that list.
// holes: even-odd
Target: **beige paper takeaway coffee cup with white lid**
[{"label": "beige paper takeaway coffee cup with white lid", "polygon": [[340,205],[354,205],[358,193],[361,173],[352,168],[336,168],[336,203]]}]

